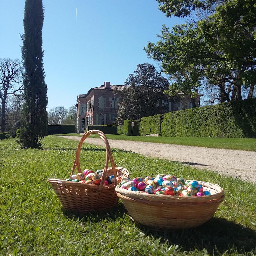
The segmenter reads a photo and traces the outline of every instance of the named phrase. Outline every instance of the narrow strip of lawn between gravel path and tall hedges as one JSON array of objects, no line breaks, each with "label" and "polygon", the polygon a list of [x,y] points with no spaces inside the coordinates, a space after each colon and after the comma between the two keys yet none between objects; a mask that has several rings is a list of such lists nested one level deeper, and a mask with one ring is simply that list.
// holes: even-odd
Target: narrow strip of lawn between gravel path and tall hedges
[{"label": "narrow strip of lawn between gravel path and tall hedges", "polygon": [[[92,135],[97,136],[97,135]],[[208,138],[208,137],[149,137],[125,136],[123,134],[107,135],[108,139],[121,139],[164,144],[177,144],[208,148],[226,148],[237,150],[256,151],[256,139],[251,138]]]}]

